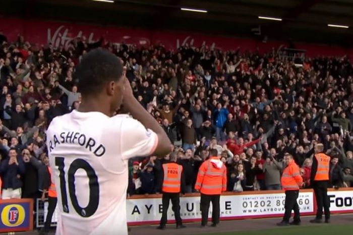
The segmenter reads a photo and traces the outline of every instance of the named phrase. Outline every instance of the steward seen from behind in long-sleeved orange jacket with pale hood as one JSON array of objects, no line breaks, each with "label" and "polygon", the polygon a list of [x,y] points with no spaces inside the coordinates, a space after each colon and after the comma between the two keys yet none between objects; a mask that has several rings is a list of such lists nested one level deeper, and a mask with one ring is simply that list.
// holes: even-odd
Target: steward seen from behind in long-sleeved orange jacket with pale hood
[{"label": "steward seen from behind in long-sleeved orange jacket with pale hood", "polygon": [[210,159],[202,163],[197,174],[195,190],[201,193],[202,227],[207,225],[210,202],[212,202],[212,226],[218,226],[219,199],[221,193],[227,189],[227,170],[217,155],[217,150],[210,150]]}]

